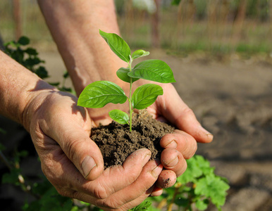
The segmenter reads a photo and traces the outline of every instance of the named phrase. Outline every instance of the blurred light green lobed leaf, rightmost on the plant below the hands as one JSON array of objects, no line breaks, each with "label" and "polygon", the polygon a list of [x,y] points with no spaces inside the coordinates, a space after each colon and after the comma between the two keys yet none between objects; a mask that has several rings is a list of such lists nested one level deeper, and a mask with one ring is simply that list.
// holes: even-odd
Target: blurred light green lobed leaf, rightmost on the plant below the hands
[{"label": "blurred light green lobed leaf, rightmost on the plant below the hands", "polygon": [[214,205],[222,206],[225,203],[228,188],[230,188],[230,186],[220,177],[210,174],[196,182],[194,193],[210,197]]}]

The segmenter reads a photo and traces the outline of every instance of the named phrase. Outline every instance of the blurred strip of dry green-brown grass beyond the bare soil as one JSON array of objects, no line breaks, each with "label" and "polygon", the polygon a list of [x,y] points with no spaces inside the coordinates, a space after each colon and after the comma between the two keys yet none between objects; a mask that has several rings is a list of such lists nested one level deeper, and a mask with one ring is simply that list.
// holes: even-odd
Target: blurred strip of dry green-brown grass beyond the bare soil
[{"label": "blurred strip of dry green-brown grass beyond the bare soil", "polygon": [[[21,1],[23,34],[30,37],[39,51],[56,50],[37,2]],[[4,41],[15,39],[11,1],[0,2],[0,32]],[[178,54],[204,51],[208,53],[267,53],[272,52],[272,25],[246,20],[241,29],[232,22],[209,23],[207,20],[185,20],[178,23],[178,8],[161,10],[161,47]],[[135,12],[118,17],[121,33],[133,49],[152,47],[150,15]]]}]

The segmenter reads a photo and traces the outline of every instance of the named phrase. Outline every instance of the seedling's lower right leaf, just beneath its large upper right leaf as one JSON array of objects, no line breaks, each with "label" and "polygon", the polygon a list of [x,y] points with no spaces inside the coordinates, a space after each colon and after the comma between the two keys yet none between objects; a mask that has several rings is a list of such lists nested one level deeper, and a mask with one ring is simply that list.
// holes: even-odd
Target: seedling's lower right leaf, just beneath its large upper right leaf
[{"label": "seedling's lower right leaf, just beneath its large upper right leaf", "polygon": [[151,106],[159,95],[163,94],[163,89],[156,84],[144,84],[138,87],[132,94],[132,107],[144,109]]}]

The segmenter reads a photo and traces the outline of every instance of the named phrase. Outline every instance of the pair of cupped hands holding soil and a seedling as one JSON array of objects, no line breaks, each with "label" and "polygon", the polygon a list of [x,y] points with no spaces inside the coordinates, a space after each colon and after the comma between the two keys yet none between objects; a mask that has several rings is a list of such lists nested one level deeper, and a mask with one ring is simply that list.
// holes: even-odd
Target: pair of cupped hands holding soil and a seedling
[{"label": "pair of cupped hands holding soil and a seedling", "polygon": [[160,85],[164,94],[147,111],[177,128],[174,134],[161,139],[161,160],[149,160],[150,151],[142,148],[122,166],[106,170],[99,148],[89,135],[99,122],[111,122],[107,112],[116,105],[86,109],[77,106],[78,98],[71,94],[56,89],[39,91],[28,103],[25,124],[42,171],[58,193],[103,210],[128,210],[175,184],[186,170],[185,159],[197,150],[197,142],[208,143],[212,135],[197,122],[172,84]]}]

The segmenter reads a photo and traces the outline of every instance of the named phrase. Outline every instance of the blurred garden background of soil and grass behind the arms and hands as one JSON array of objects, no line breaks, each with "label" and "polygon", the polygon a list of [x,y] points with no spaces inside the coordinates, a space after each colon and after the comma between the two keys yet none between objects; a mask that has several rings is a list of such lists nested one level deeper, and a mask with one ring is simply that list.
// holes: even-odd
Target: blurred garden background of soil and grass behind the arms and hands
[{"label": "blurred garden background of soil and grass behind the arms and hands", "polygon": [[[272,210],[272,0],[115,2],[122,37],[171,66],[181,98],[214,134],[197,154],[230,181],[223,210]],[[0,1],[0,34],[3,42],[29,37],[46,61],[47,81],[61,80],[66,68],[37,1]],[[13,146],[32,149],[22,165],[34,177],[28,134],[4,117],[0,128],[7,153]],[[12,194],[1,186],[1,200]]]}]

